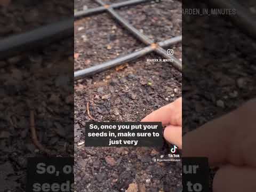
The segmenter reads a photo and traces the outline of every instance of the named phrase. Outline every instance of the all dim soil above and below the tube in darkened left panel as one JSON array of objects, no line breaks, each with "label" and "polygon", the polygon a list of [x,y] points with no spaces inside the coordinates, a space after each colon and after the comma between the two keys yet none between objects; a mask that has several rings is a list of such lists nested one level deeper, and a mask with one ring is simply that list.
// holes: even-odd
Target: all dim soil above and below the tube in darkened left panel
[{"label": "all dim soil above and below the tube in darkened left panel", "polygon": [[[51,20],[50,14],[57,10],[66,10],[63,15],[73,12],[73,6],[70,10],[68,4],[59,2],[12,1],[5,9],[0,7],[0,38],[54,21],[57,15]],[[7,28],[10,30],[4,31]],[[70,38],[0,61],[1,192],[25,191],[27,158],[47,156],[31,139],[30,109],[34,110],[39,142],[52,155],[74,154],[73,43]]]}]

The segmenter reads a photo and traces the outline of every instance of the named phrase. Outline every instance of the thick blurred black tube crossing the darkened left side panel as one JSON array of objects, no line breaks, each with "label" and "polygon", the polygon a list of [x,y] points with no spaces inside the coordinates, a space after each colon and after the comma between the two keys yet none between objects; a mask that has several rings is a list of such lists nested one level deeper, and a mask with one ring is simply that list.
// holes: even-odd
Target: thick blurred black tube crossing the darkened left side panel
[{"label": "thick blurred black tube crossing the darkened left side panel", "polygon": [[0,60],[74,35],[74,18],[0,39]]}]

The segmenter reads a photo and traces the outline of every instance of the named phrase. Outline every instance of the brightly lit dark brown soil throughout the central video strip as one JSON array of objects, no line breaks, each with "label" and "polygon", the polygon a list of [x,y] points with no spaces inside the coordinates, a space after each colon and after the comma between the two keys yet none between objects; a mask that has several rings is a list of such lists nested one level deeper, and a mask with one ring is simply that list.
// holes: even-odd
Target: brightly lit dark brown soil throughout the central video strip
[{"label": "brightly lit dark brown soil throughout the central video strip", "polygon": [[[88,7],[91,5],[91,1],[79,1],[79,6],[83,5],[82,2]],[[137,5],[118,10],[118,13],[156,41],[181,34],[179,2],[166,0],[159,4]],[[111,49],[107,49],[108,45]],[[107,13],[75,21],[75,54],[79,53],[75,70],[131,53],[143,46]],[[176,46],[175,52],[180,59],[181,46]],[[171,63],[147,62],[147,59],[157,58],[161,57],[152,53],[127,63],[123,69],[111,69],[75,82],[77,191],[125,191],[135,183],[141,192],[170,192],[181,186],[179,163],[153,162],[154,157],[169,153],[166,148],[84,148],[82,145],[83,127],[92,121],[87,115],[87,102],[95,121],[129,122],[140,121],[151,111],[181,96],[181,73]]]}]

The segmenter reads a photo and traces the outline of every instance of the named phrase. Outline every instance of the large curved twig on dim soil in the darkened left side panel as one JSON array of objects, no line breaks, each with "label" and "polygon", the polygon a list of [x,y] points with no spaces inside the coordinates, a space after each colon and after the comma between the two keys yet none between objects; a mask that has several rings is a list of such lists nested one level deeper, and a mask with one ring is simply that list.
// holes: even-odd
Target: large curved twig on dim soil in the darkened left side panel
[{"label": "large curved twig on dim soil in the darkened left side panel", "polygon": [[34,142],[34,145],[44,153],[50,155],[51,151],[46,149],[37,139],[36,129],[35,129],[35,117],[34,117],[34,110],[30,109],[30,131],[31,131],[31,138]]}]

